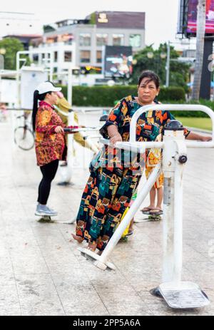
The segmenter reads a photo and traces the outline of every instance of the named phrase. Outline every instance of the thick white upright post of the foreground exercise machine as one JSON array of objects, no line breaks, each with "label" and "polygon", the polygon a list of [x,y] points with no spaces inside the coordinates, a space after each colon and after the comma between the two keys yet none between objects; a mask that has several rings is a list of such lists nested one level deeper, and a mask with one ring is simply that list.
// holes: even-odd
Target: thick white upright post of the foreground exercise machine
[{"label": "thick white upright post of the foreground exercise machine", "polygon": [[163,283],[180,282],[183,245],[183,164],[186,156],[182,130],[165,130],[163,136]]}]

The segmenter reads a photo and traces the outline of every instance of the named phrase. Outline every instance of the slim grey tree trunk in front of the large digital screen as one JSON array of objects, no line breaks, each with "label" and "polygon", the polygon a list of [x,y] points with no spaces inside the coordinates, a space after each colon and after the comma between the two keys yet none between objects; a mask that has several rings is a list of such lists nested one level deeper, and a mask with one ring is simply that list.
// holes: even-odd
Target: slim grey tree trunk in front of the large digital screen
[{"label": "slim grey tree trunk in front of the large digital screen", "polygon": [[193,100],[199,100],[203,68],[203,49],[205,38],[206,0],[198,0],[195,75],[193,81]]}]

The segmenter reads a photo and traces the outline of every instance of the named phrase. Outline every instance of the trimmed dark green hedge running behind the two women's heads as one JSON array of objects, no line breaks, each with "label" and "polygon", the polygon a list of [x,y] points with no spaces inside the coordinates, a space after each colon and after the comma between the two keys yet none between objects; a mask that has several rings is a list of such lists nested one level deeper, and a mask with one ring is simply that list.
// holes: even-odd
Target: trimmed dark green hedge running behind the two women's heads
[{"label": "trimmed dark green hedge running behind the two women's heads", "polygon": [[[67,95],[66,86],[61,86]],[[115,100],[128,95],[137,95],[137,86],[73,86],[73,105],[111,107]],[[185,92],[181,87],[161,88],[158,100],[185,100]]]}]

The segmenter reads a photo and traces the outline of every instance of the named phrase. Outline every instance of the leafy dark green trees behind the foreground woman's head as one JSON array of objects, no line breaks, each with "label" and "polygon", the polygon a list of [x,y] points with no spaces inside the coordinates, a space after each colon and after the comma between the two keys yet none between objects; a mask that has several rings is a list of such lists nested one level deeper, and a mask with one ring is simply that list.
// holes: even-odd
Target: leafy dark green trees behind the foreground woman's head
[{"label": "leafy dark green trees behind the foreground woman's head", "polygon": [[[161,79],[161,84],[165,84],[165,66],[166,66],[167,44],[161,43],[157,50],[153,46],[146,46],[136,53],[134,59],[136,64],[133,66],[133,76],[131,83],[137,83],[138,77],[143,70],[155,71]],[[186,83],[188,81],[190,65],[178,61],[179,53],[170,46],[170,86],[181,86],[188,90]]]}]

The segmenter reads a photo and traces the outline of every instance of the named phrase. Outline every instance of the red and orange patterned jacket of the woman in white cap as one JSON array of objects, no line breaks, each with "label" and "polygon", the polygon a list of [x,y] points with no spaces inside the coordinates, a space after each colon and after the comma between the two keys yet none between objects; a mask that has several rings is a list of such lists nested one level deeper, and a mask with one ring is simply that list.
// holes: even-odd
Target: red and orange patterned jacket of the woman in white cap
[{"label": "red and orange patterned jacket of the woman in white cap", "polygon": [[36,159],[37,165],[44,166],[53,160],[63,160],[66,148],[63,134],[55,133],[57,126],[66,127],[54,108],[41,101],[36,114]]}]

